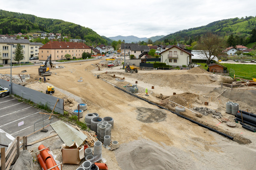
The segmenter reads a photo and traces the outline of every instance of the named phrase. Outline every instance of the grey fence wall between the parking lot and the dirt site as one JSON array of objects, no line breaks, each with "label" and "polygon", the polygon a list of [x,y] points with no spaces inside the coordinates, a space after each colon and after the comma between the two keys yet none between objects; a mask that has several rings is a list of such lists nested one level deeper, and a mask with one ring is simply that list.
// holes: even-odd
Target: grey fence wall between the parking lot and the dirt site
[{"label": "grey fence wall between the parking lot and the dirt site", "polygon": [[[0,86],[10,89],[10,82],[0,79]],[[59,99],[49,94],[44,94],[42,92],[35,91],[30,88],[26,88],[22,85],[17,85],[15,83],[12,83],[12,94],[21,96],[24,99],[30,99],[32,102],[37,104],[41,104],[41,105],[47,104],[50,109],[54,108],[57,102],[57,99]],[[64,99],[59,99],[54,111],[60,114],[64,114]]]}]

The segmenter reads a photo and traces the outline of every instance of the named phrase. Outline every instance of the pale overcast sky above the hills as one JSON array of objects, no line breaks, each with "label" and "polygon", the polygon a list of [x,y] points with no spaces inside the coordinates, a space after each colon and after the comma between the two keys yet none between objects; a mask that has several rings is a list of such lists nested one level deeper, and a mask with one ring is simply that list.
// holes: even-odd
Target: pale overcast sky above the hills
[{"label": "pale overcast sky above the hills", "polygon": [[101,36],[153,37],[256,16],[255,0],[0,0],[0,9],[76,23]]}]

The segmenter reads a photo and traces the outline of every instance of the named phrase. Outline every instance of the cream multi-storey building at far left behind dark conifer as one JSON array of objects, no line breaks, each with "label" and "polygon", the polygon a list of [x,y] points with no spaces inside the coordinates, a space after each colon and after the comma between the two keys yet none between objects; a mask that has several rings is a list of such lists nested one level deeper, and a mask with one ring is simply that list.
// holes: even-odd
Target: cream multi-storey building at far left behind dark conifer
[{"label": "cream multi-storey building at far left behind dark conifer", "polygon": [[[13,44],[13,45],[7,45]],[[11,56],[12,62],[15,63],[14,55],[15,48],[17,44],[20,44],[23,48],[24,59],[20,60],[20,62],[29,62],[29,40],[27,39],[0,39],[0,54],[2,59],[0,59],[0,64],[10,64]]]}]

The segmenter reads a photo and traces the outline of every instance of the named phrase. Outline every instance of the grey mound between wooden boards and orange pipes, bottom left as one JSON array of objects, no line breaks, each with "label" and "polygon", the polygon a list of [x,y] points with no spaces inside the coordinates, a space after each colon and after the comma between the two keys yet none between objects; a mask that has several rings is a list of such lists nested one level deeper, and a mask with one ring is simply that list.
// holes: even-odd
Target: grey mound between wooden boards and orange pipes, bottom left
[{"label": "grey mound between wooden boards and orange pipes, bottom left", "polygon": [[28,150],[20,152],[20,156],[12,167],[12,170],[34,170],[32,156]]}]

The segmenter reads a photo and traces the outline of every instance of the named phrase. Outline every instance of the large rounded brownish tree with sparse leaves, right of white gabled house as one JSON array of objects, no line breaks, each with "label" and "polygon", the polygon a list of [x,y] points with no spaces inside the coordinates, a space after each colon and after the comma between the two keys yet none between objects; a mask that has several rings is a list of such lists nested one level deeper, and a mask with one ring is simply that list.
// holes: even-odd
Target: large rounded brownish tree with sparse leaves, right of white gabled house
[{"label": "large rounded brownish tree with sparse leaves, right of white gabled house", "polygon": [[221,52],[223,44],[223,39],[218,37],[218,35],[207,33],[198,41],[197,49],[201,50],[201,54],[203,54],[208,59],[208,63],[210,63],[211,60],[217,57]]}]

